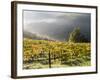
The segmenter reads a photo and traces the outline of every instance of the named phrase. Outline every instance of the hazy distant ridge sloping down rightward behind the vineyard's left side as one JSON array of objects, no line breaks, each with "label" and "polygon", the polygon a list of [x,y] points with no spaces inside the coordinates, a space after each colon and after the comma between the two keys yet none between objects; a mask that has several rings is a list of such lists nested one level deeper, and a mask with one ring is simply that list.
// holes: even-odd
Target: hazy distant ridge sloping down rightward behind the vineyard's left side
[{"label": "hazy distant ridge sloping down rightward behind the vineyard's left side", "polygon": [[51,38],[49,38],[49,37],[47,37],[47,36],[42,36],[42,35],[40,35],[40,34],[31,33],[31,32],[28,32],[28,31],[24,31],[23,37],[24,37],[24,38],[33,39],[33,40],[49,40],[49,41],[56,41],[56,40],[51,39]]}]

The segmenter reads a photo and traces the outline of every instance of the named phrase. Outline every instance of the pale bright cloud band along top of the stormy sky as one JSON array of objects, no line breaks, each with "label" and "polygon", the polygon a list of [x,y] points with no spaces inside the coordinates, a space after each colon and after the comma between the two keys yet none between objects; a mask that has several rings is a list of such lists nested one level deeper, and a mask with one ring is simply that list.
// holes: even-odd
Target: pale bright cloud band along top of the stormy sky
[{"label": "pale bright cloud band along top of the stormy sky", "polygon": [[85,17],[86,15],[70,12],[24,11],[24,25],[41,22],[50,24],[66,21],[66,23],[70,23],[81,16]]}]

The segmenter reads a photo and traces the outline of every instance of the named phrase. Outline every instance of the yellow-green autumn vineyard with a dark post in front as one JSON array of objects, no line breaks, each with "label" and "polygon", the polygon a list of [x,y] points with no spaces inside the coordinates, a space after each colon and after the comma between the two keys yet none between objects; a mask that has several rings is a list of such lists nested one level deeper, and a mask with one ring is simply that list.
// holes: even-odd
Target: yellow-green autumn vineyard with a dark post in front
[{"label": "yellow-green autumn vineyard with a dark post in front", "polygon": [[23,40],[23,69],[91,65],[90,43]]}]

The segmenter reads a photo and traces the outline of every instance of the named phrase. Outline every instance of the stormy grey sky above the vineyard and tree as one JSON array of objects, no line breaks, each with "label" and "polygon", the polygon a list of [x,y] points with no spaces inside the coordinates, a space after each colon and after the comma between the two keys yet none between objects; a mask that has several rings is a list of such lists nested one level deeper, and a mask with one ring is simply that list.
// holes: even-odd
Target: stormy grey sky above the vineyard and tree
[{"label": "stormy grey sky above the vineyard and tree", "polygon": [[90,39],[90,20],[89,13],[24,10],[23,30],[64,41],[74,28],[79,27],[81,33]]}]

